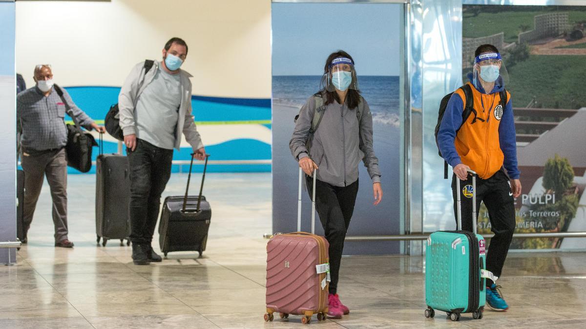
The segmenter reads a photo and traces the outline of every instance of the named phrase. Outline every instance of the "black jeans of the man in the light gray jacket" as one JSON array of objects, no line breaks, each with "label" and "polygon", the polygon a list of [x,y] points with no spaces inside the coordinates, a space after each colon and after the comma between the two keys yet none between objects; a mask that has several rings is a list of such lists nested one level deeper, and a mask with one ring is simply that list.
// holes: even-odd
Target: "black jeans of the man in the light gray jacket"
[{"label": "black jeans of the man in the light gray jacket", "polygon": [[161,208],[161,194],[171,177],[173,150],[158,148],[137,139],[137,148],[127,148],[130,162],[130,240],[151,244]]}]

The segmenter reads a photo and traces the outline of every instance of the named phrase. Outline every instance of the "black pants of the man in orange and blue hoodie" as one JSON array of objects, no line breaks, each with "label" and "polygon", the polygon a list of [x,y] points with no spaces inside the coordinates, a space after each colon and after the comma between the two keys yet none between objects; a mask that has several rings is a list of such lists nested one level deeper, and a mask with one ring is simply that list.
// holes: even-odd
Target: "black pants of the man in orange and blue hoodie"
[{"label": "black pants of the man in orange and blue hoodie", "polygon": [[[452,197],[454,197],[454,214],[458,221],[458,199],[456,196],[456,175],[452,177]],[[469,187],[468,187],[469,185]],[[472,232],[472,194],[466,193],[464,189],[472,191],[472,176],[468,180],[460,181],[460,200],[462,200],[462,229]],[[481,201],[486,205],[490,218],[491,230],[495,237],[490,239],[488,252],[486,253],[486,269],[496,276],[500,276],[509,252],[509,246],[515,232],[515,204],[513,193],[509,185],[509,177],[499,170],[489,179],[476,177],[476,210],[478,211]],[[478,213],[476,214],[478,218]],[[492,280],[486,279],[486,285],[492,285]]]}]

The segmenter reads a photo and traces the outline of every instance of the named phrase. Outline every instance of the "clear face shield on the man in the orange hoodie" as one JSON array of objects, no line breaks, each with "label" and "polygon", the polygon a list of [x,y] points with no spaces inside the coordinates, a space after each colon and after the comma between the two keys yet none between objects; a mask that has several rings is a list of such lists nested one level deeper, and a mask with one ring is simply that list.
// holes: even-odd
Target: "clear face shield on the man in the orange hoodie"
[{"label": "clear face shield on the man in the orange hoodie", "polygon": [[[499,53],[483,53],[474,59],[472,72],[474,87],[479,88],[482,82],[505,86],[509,83],[509,73]],[[490,92],[491,90],[485,90]]]}]

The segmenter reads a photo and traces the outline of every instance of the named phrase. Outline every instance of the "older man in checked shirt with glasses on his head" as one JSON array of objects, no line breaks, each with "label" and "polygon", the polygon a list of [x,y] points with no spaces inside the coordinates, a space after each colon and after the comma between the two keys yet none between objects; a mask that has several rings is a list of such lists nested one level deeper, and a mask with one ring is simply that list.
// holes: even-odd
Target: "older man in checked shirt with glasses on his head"
[{"label": "older man in checked shirt with glasses on his head", "polygon": [[[21,165],[25,172],[25,201],[23,204],[23,230],[26,233],[35,213],[43,186],[43,176],[51,189],[53,199],[53,224],[55,246],[71,248],[67,237],[67,128],[64,122],[66,107],[55,91],[53,72],[49,65],[35,67],[36,85],[18,94],[16,98],[16,122],[22,129]],[[63,90],[64,101],[71,108],[70,115],[82,126],[104,132],[89,116],[79,109]]]}]

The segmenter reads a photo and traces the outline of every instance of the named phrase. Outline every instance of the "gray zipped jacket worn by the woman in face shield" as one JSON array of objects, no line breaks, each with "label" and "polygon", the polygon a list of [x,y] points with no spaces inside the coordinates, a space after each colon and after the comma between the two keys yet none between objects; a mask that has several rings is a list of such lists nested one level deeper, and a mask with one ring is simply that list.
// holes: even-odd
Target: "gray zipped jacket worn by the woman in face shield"
[{"label": "gray zipped jacket worn by the woman in face shield", "polygon": [[[305,142],[309,138],[315,112],[315,96],[309,97],[299,112],[289,148],[296,160],[308,156]],[[333,186],[348,186],[358,179],[360,160],[367,167],[373,183],[380,183],[379,159],[372,146],[372,114],[366,101],[360,116],[338,102],[326,105],[322,121],[314,133],[309,157],[318,165],[317,179]],[[359,133],[360,132],[360,133]],[[360,135],[360,136],[359,136]]]}]

